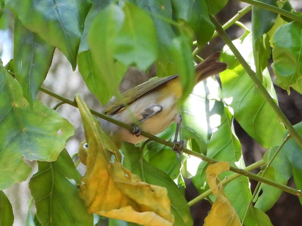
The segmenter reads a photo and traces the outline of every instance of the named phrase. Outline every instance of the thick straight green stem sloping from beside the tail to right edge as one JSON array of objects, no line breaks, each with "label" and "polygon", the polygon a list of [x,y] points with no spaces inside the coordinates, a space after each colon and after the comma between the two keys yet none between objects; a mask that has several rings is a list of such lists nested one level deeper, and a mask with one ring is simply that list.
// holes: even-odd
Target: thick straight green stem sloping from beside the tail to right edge
[{"label": "thick straight green stem sloping from beside the tail to right edge", "polygon": [[278,105],[275,103],[275,101],[271,98],[271,96],[266,91],[265,87],[262,85],[261,81],[256,76],[255,72],[249,67],[249,64],[244,60],[243,56],[240,54],[238,49],[236,49],[235,45],[231,41],[231,39],[227,36],[226,32],[223,30],[221,25],[217,22],[217,20],[214,17],[210,17],[212,23],[215,25],[215,29],[222,38],[222,40],[226,43],[227,46],[229,46],[230,50],[233,52],[237,60],[240,62],[240,64],[243,66],[245,71],[249,74],[249,77],[253,80],[255,83],[255,86],[259,89],[260,93],[262,93],[262,96],[264,96],[265,100],[268,102],[269,105],[273,108],[278,118],[283,122],[284,126],[288,129],[289,133],[291,134],[291,137],[298,143],[298,145],[302,148],[302,138],[297,133],[297,131],[294,129],[292,124],[288,121],[286,116],[283,114],[283,112],[280,110]]}]

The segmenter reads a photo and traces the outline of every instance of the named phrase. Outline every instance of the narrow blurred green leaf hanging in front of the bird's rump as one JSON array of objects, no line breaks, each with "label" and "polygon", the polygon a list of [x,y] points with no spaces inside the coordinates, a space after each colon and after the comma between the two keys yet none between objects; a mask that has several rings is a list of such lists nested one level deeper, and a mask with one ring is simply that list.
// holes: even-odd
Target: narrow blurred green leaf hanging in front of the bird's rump
[{"label": "narrow blurred green leaf hanging in front of the bird's rump", "polygon": [[176,67],[177,74],[182,84],[182,103],[192,92],[195,85],[195,68],[192,56],[192,42],[184,35],[173,39],[171,46],[172,62]]}]

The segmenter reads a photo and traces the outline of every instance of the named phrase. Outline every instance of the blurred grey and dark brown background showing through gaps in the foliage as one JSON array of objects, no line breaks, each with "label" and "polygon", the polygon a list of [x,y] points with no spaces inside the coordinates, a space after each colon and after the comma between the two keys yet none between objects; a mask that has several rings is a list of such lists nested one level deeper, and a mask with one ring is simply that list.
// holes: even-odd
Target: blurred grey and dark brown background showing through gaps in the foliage
[{"label": "blurred grey and dark brown background showing through gaps in the foliage", "polygon": [[[302,11],[301,0],[290,0],[290,2],[296,11]],[[245,6],[245,3],[229,0],[226,7],[217,15],[217,19],[221,24],[224,24]],[[242,17],[240,21],[250,29],[251,12]],[[14,22],[12,14],[5,9],[5,16],[3,15],[0,20],[0,57],[4,65],[12,58],[13,24]],[[243,30],[239,26],[234,25],[227,30],[227,33],[231,39],[236,39],[243,34]],[[221,50],[223,46],[224,43],[219,37],[217,37],[210,42],[210,45],[204,46],[199,55],[202,58],[206,58],[211,53]],[[269,63],[269,65],[271,63],[272,61]],[[269,71],[271,73],[272,80],[274,81],[275,76],[270,67]],[[152,67],[148,74],[137,71],[135,68],[129,68],[127,74],[122,80],[122,83],[120,84],[120,91],[124,92],[127,89],[136,86],[137,84],[140,84],[155,75],[155,67]],[[50,71],[42,86],[71,100],[74,98],[76,93],[79,93],[90,108],[95,109],[96,111],[100,111],[101,109],[100,102],[92,93],[90,93],[81,75],[79,74],[79,71],[77,69],[76,71],[72,71],[71,65],[67,61],[66,57],[57,49],[54,53]],[[297,124],[298,122],[302,121],[302,95],[294,90],[291,90],[291,94],[288,95],[287,91],[278,86],[275,86],[275,90],[278,96],[279,106],[289,121],[292,124]],[[54,105],[59,102],[58,100],[41,92],[38,94],[37,99],[51,108],[53,108]],[[82,140],[84,140],[84,133],[79,111],[77,108],[66,104],[59,106],[57,111],[75,127],[75,135],[69,139],[66,146],[69,154],[73,155],[78,151],[79,144],[82,142]],[[249,137],[249,135],[236,121],[234,125],[236,135],[238,136],[242,145],[246,165],[250,165],[251,163],[262,159],[266,149]],[[75,159],[75,161],[76,160],[77,159]],[[32,174],[36,173],[36,162],[27,161],[27,163],[34,167]],[[85,168],[81,164],[78,166],[78,170],[82,174],[85,173]],[[254,173],[257,173],[257,171]],[[13,206],[15,216],[14,226],[25,225],[28,206],[31,200],[30,191],[28,189],[28,180],[20,184],[14,184],[12,187],[4,190]],[[254,189],[256,186],[256,181],[251,180],[250,182],[251,188]],[[292,179],[289,180],[288,185],[295,187]],[[191,180],[186,180],[186,186],[187,188],[185,195],[188,201],[198,196],[198,192],[191,183]],[[210,203],[205,200],[192,206],[191,213],[194,219],[194,225],[203,225],[204,218],[206,217],[208,211],[210,211]],[[301,225],[301,213],[302,207],[299,200],[296,196],[288,193],[283,193],[275,206],[273,206],[273,208],[267,212],[272,224],[275,226]]]}]

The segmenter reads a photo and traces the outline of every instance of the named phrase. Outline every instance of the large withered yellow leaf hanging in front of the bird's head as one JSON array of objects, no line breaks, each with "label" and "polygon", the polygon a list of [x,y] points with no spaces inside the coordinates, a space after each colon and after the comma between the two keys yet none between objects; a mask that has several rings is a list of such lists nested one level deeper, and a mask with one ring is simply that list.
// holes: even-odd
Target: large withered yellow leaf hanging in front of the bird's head
[{"label": "large withered yellow leaf hanging in front of the bird's head", "polygon": [[101,130],[78,95],[75,97],[83,121],[88,148],[81,149],[87,166],[79,196],[88,213],[143,225],[173,225],[167,189],[147,184],[120,163],[118,149]]}]

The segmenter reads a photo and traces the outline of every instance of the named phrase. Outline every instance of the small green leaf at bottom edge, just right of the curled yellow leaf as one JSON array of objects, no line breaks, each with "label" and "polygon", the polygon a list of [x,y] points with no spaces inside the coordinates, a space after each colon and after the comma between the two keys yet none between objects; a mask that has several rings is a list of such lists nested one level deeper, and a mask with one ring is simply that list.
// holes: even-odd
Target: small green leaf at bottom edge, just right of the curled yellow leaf
[{"label": "small green leaf at bottom edge, just right of the curled yellow leaf", "polygon": [[245,226],[272,226],[271,220],[269,219],[268,215],[265,214],[260,209],[255,207],[248,209],[248,214],[244,220]]}]

